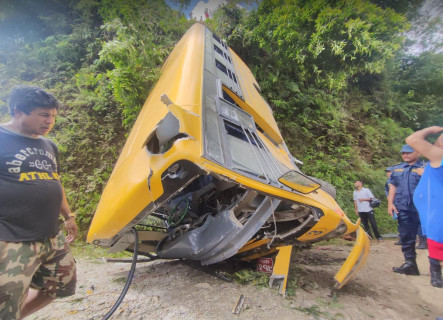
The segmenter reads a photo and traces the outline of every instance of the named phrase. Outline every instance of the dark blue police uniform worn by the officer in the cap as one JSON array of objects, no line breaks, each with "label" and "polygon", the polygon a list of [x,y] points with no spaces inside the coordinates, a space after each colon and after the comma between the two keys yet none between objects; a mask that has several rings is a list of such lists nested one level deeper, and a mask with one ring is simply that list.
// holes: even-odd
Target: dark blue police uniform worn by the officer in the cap
[{"label": "dark blue police uniform worn by the officer in the cap", "polygon": [[415,239],[417,237],[417,230],[420,227],[420,218],[413,202],[413,196],[421,178],[417,169],[422,167],[424,167],[423,160],[419,160],[413,165],[403,162],[394,167],[389,178],[389,183],[397,187],[394,205],[398,210],[398,231],[405,260],[415,261],[417,256],[415,252]]}]

